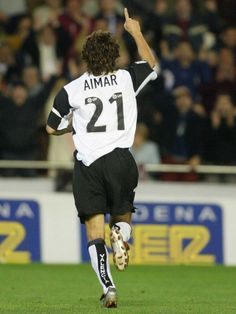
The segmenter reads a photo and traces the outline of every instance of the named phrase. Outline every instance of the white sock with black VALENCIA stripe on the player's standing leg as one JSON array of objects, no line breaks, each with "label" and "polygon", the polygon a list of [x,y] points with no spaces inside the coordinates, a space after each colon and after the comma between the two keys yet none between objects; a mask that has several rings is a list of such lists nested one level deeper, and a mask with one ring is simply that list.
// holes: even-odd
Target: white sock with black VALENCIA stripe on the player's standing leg
[{"label": "white sock with black VALENCIA stripe on the player's standing leg", "polygon": [[108,251],[103,239],[96,239],[88,243],[88,251],[92,267],[97,274],[98,280],[106,294],[108,287],[115,287],[111,271]]}]

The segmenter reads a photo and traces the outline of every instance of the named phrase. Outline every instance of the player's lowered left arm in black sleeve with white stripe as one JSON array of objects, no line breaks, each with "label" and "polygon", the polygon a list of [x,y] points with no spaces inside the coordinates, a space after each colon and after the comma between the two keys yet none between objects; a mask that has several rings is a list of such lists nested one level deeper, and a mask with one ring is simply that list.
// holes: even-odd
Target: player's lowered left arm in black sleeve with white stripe
[{"label": "player's lowered left arm in black sleeve with white stripe", "polygon": [[63,88],[54,99],[53,108],[48,116],[46,131],[52,135],[71,133],[73,128],[70,112],[71,106],[68,95]]}]

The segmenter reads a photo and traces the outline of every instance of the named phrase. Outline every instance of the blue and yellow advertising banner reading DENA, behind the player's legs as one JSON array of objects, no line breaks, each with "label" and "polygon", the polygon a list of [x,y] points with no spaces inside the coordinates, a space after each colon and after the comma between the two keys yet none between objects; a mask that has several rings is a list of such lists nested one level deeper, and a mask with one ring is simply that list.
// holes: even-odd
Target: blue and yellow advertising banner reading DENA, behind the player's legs
[{"label": "blue and yellow advertising banner reading DENA, behind the player's legs", "polygon": [[[136,203],[130,241],[133,264],[222,264],[222,208],[215,204]],[[109,227],[106,226],[109,245]],[[82,260],[88,261],[81,231]]]}]

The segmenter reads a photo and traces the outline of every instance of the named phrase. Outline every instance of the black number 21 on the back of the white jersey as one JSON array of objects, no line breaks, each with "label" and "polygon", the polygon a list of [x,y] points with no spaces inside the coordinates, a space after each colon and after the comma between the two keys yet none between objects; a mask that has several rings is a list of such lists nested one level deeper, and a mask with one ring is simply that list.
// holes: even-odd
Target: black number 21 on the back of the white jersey
[{"label": "black number 21 on the back of the white jersey", "polygon": [[[113,102],[116,102],[117,105],[117,129],[118,130],[124,130],[125,124],[124,124],[124,110],[123,110],[123,98],[122,93],[115,93],[112,95],[112,97],[109,99],[109,102],[112,104]],[[106,132],[106,125],[95,125],[98,118],[100,117],[103,109],[103,103],[101,99],[98,97],[88,97],[85,99],[85,104],[91,104],[93,103],[96,106],[95,112],[87,124],[87,132]]]}]

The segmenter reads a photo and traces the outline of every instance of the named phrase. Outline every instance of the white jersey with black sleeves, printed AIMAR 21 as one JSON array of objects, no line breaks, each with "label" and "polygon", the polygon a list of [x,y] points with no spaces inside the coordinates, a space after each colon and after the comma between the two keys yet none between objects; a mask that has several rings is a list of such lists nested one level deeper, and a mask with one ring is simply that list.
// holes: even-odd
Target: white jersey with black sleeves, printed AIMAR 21
[{"label": "white jersey with black sleeves, printed AIMAR 21", "polygon": [[137,122],[136,96],[157,73],[147,62],[94,76],[84,73],[55,97],[48,125],[60,130],[73,112],[76,158],[86,166],[115,148],[130,148]]}]

